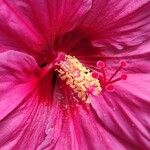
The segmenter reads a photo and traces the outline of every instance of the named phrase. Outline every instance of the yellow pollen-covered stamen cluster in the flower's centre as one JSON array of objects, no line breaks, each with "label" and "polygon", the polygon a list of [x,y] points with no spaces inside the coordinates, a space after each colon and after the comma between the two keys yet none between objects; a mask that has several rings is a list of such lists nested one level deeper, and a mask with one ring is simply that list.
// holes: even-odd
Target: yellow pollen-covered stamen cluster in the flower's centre
[{"label": "yellow pollen-covered stamen cluster in the flower's centre", "polygon": [[84,67],[79,60],[70,55],[65,56],[65,60],[57,64],[56,69],[62,80],[66,81],[77,96],[83,101],[87,101],[88,92],[93,89],[93,95],[101,91],[99,80],[92,77],[89,69]]}]

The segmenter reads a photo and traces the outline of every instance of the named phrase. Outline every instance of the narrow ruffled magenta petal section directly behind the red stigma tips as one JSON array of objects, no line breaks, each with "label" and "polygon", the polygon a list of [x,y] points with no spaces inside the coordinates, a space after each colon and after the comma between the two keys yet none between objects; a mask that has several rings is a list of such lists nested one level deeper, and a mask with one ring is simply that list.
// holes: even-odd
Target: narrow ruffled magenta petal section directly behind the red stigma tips
[{"label": "narrow ruffled magenta petal section directly behind the red stigma tips", "polygon": [[[111,49],[104,49],[98,51],[97,55],[89,55],[83,62],[89,67],[94,68],[97,61],[103,61],[106,64],[106,74],[108,78],[118,69],[120,61],[126,62],[126,67],[123,69],[127,75],[129,73],[149,73],[150,68],[147,67],[150,58],[150,42],[144,43],[137,48],[129,50],[118,51]],[[92,67],[91,67],[92,66]],[[95,70],[95,69],[94,69]]]}]

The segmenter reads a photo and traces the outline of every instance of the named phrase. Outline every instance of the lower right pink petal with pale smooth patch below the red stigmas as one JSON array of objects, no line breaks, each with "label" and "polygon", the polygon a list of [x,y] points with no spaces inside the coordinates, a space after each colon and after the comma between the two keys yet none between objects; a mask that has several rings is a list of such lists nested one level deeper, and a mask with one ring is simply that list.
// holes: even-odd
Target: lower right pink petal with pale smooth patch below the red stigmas
[{"label": "lower right pink petal with pale smooth patch below the red stigmas", "polygon": [[150,148],[150,77],[129,74],[115,84],[114,92],[92,97],[92,107],[105,129],[130,149]]}]

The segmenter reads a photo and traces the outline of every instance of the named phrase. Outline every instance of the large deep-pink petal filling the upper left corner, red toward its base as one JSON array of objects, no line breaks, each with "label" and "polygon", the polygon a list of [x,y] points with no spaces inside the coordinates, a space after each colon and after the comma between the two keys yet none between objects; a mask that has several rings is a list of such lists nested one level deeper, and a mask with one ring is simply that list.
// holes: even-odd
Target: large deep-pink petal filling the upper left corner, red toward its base
[{"label": "large deep-pink petal filling the upper left corner, red toward its base", "polygon": [[[57,39],[74,29],[92,0],[1,0],[0,52],[9,49],[34,56],[40,65],[56,55]],[[62,50],[62,48],[61,48]]]}]

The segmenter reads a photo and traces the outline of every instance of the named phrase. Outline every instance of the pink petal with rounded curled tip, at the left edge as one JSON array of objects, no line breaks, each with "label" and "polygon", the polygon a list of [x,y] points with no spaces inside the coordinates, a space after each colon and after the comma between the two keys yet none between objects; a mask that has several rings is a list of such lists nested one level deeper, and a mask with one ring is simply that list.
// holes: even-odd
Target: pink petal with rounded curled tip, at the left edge
[{"label": "pink petal with rounded curled tip, at the left edge", "polygon": [[36,69],[36,62],[26,54],[15,51],[0,53],[0,119],[31,92],[30,82]]}]

